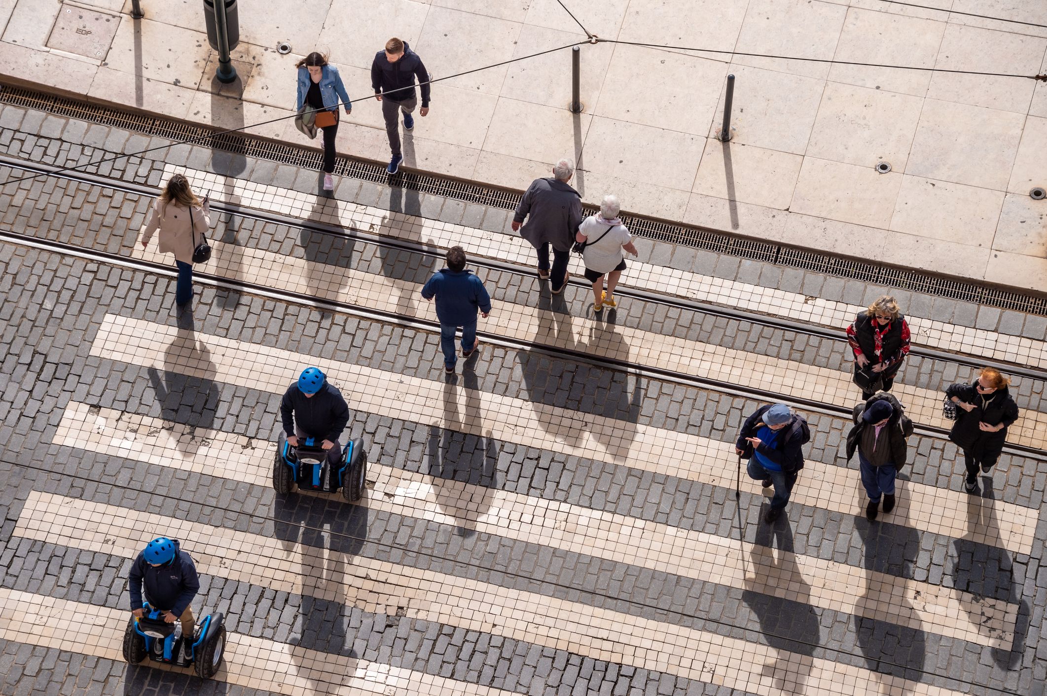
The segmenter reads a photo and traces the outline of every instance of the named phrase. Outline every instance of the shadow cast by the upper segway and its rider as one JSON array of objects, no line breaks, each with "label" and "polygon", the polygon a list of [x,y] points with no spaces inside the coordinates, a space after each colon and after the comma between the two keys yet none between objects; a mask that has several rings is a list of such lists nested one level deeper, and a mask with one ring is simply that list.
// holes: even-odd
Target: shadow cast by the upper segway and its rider
[{"label": "shadow cast by the upper segway and its rider", "polygon": [[[298,610],[287,642],[295,648],[356,657],[347,634],[349,612],[361,583],[348,566],[365,542],[369,509],[344,503],[339,493],[298,491],[276,494],[272,513],[273,535],[302,583],[300,595],[291,593],[287,598]],[[303,650],[288,652],[296,672],[308,674],[313,660]],[[312,691],[326,693],[326,682],[309,680]]]}]

